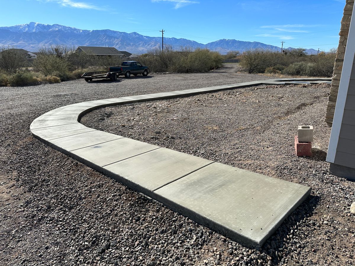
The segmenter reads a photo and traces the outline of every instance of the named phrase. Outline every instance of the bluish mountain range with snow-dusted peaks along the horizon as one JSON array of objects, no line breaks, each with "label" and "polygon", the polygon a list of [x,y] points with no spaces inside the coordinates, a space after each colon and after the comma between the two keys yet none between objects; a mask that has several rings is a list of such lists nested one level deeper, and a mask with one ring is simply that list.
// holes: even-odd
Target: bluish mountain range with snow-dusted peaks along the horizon
[{"label": "bluish mountain range with snow-dusted peaks along the horizon", "polygon": [[[132,54],[142,54],[153,48],[161,47],[161,37],[149,37],[136,32],[126,33],[102,30],[82,30],[59,24],[41,24],[30,22],[9,27],[0,27],[0,45],[16,46],[28,51],[36,52],[43,46],[50,44],[65,44],[70,46],[110,46],[120,51]],[[226,54],[228,51],[245,51],[248,49],[268,49],[280,51],[281,48],[257,41],[239,41],[234,39],[221,39],[211,43],[202,44],[183,38],[165,38],[164,45],[171,45],[174,50],[181,47],[208,48]],[[293,48],[286,48],[293,49]],[[317,50],[307,49],[308,54],[317,54]]]}]

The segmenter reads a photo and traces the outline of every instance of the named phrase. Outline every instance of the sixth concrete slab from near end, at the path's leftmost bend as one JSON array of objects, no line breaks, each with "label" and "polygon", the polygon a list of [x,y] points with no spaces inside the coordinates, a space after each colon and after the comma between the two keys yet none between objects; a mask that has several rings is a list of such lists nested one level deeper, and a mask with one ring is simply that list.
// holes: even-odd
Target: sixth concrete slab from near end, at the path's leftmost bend
[{"label": "sixth concrete slab from near end, at the path's leftmost bend", "polygon": [[39,116],[31,123],[30,129],[61,126],[77,123],[77,115]]}]

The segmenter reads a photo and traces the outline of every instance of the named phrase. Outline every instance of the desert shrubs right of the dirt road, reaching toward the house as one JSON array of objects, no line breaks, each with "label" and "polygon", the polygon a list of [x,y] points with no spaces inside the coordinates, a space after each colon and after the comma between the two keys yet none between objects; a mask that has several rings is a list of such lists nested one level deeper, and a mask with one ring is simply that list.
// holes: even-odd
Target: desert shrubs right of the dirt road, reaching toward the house
[{"label": "desert shrubs right of the dirt road, reaching toward the house", "polygon": [[248,50],[240,56],[240,66],[248,73],[285,74],[289,76],[331,77],[335,50],[307,55],[305,49],[286,52]]}]

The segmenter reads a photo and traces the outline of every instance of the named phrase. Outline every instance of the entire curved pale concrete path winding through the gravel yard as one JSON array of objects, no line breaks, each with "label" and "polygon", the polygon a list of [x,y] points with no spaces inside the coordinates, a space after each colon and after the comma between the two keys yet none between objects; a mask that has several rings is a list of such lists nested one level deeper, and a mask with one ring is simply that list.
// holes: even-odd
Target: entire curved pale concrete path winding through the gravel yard
[{"label": "entire curved pale concrete path winding through the gravel yard", "polygon": [[36,118],[31,134],[83,164],[236,241],[260,246],[306,199],[310,188],[85,127],[99,107],[260,84],[329,79],[269,79],[209,88],[87,101]]}]

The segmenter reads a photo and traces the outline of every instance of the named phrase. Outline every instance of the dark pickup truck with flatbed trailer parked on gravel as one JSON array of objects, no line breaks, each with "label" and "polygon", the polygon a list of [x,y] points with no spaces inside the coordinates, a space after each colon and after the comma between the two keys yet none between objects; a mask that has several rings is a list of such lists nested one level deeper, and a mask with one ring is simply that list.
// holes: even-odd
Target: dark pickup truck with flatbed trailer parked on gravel
[{"label": "dark pickup truck with flatbed trailer parked on gravel", "polygon": [[143,66],[138,61],[123,61],[121,62],[121,66],[110,67],[108,72],[85,72],[82,74],[81,78],[85,79],[86,82],[92,81],[94,78],[105,78],[111,79],[111,81],[116,81],[117,77],[120,75],[125,75],[126,78],[129,78],[131,75],[137,76],[138,74],[147,76],[148,67]]}]

